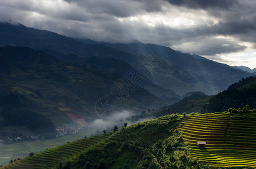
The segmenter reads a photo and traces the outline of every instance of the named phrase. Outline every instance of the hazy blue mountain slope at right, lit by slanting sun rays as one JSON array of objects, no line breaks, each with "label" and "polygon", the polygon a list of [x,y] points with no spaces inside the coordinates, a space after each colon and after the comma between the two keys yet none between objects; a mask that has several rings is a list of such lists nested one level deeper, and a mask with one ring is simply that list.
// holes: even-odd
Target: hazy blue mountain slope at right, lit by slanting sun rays
[{"label": "hazy blue mountain slope at right, lit by slanting sun rays", "polygon": [[[176,67],[179,67],[179,70],[190,74],[188,77],[194,79],[193,83],[185,82],[183,78],[173,77],[176,73],[168,74],[171,75],[171,77],[168,78],[168,81],[173,84],[176,84],[177,81],[185,82],[179,84],[181,88],[183,88],[182,90],[176,88],[179,85],[176,87],[170,85],[170,87],[173,87],[172,90],[180,95],[184,95],[186,92],[190,91],[202,91],[207,95],[217,94],[219,91],[225,90],[229,84],[235,83],[242,77],[253,75],[239,69],[234,69],[226,64],[206,59],[202,56],[183,54],[180,51],[172,50],[170,47],[144,44],[141,42],[129,44],[103,44],[115,49],[130,52],[134,55],[144,55],[147,51],[151,51],[159,59],[167,61],[169,65],[175,65]],[[164,77],[166,76],[167,75]],[[185,77],[185,79],[188,79],[188,77]],[[158,84],[166,86],[164,82],[161,82],[161,79],[159,79]],[[188,88],[190,88],[190,91]]]}]

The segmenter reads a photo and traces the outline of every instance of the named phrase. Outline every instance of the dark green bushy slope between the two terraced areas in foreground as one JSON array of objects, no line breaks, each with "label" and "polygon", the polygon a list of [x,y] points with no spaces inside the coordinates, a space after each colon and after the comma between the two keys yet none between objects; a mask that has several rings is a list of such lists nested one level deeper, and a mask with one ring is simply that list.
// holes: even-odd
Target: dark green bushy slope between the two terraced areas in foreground
[{"label": "dark green bushy slope between the two terraced areas in foreground", "polygon": [[189,150],[178,130],[183,117],[165,115],[109,132],[109,143],[90,149],[58,168],[193,168],[202,167],[186,155]]}]

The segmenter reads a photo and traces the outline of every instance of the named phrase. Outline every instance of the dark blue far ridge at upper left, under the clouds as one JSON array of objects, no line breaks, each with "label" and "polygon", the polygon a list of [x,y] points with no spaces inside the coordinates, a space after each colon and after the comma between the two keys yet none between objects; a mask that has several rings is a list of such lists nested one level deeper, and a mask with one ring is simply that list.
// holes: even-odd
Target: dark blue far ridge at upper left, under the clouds
[{"label": "dark blue far ridge at upper left, under the clouds", "polygon": [[27,28],[26,26],[0,23],[0,46],[23,46],[37,50],[50,49],[62,54],[76,54],[80,57],[116,57],[137,61],[137,56],[117,51],[101,44],[86,44],[75,39],[46,30]]}]

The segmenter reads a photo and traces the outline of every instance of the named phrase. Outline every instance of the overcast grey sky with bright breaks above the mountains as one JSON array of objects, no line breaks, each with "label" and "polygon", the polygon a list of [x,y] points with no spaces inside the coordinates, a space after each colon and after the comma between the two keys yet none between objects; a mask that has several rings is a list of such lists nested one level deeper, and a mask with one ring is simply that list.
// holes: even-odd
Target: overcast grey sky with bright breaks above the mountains
[{"label": "overcast grey sky with bright breaks above the mountains", "polygon": [[140,41],[256,68],[254,0],[0,0],[0,21],[68,37]]}]

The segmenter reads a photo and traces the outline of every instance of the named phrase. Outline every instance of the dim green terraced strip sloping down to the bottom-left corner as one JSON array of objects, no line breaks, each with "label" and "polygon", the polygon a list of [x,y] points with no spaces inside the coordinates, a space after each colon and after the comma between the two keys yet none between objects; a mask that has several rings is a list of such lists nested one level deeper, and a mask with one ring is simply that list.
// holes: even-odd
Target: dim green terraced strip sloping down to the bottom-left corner
[{"label": "dim green terraced strip sloping down to the bottom-left corner", "polygon": [[34,154],[32,157],[20,159],[3,168],[54,168],[61,161],[76,159],[86,149],[103,146],[106,144],[106,138],[107,136],[98,135],[89,137],[88,139],[77,140]]}]

